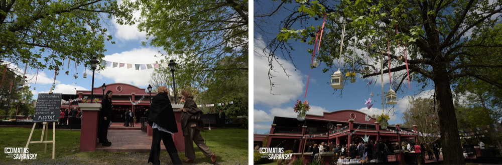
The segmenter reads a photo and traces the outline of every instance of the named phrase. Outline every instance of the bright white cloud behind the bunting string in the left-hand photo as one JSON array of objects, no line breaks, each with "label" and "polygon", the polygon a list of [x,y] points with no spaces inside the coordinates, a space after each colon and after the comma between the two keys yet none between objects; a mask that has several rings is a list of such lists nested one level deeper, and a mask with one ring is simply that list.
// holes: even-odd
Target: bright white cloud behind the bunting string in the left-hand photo
[{"label": "bright white cloud behind the bunting string in the left-hand photo", "polygon": [[[106,61],[126,63],[124,67],[106,67],[104,70],[96,72],[97,78],[110,78],[115,82],[131,83],[137,86],[147,86],[150,74],[155,69],[135,69],[134,64],[152,64],[163,57],[159,54],[159,49],[155,48],[135,48],[130,51],[122,51],[106,55],[103,59]],[[155,57],[158,55],[158,57]],[[133,64],[132,68],[127,68],[127,63]]]}]

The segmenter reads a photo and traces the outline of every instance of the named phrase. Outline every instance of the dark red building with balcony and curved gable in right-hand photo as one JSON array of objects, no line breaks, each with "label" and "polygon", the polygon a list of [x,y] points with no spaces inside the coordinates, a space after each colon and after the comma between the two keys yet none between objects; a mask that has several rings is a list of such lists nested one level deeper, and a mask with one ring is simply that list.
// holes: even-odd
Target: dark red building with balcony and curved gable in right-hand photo
[{"label": "dark red building with balcony and curved gable in right-hand photo", "polygon": [[[323,115],[307,114],[303,121],[275,116],[269,134],[254,134],[254,146],[262,147],[262,141],[267,138],[266,147],[284,147],[286,150],[299,152],[309,145],[321,142],[333,142],[339,145],[348,145],[352,141],[357,143],[363,141],[364,136],[369,136],[368,140],[373,141],[382,139],[388,146],[398,142],[398,136],[402,141],[417,140],[416,135],[398,135],[397,132],[393,132],[392,130],[397,130],[396,126],[382,129],[376,118],[369,117],[369,121],[366,121],[366,115],[358,110],[345,109],[323,112]],[[328,131],[329,123],[333,125],[330,131]],[[409,128],[399,128],[411,131]],[[416,129],[414,126],[415,131]]]}]

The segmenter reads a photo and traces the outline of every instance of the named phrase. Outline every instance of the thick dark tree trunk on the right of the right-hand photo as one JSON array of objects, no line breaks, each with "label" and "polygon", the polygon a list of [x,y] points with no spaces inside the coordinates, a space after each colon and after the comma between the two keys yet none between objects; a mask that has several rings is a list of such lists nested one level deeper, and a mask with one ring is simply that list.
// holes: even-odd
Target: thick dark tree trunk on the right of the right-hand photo
[{"label": "thick dark tree trunk on the right of the right-hand photo", "polygon": [[438,116],[441,133],[441,146],[443,149],[444,164],[465,164],[462,155],[460,136],[458,135],[457,118],[453,106],[448,75],[444,70],[436,70],[433,81],[435,84],[435,96],[439,106]]}]

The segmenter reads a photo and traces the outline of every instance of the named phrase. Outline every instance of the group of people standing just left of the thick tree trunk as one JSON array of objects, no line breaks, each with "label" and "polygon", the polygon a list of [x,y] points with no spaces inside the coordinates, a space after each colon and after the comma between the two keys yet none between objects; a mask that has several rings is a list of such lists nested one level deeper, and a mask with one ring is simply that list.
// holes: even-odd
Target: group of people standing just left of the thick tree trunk
[{"label": "group of people standing just left of the thick tree trunk", "polygon": [[[414,145],[414,146],[413,146]],[[402,146],[404,149],[404,146]],[[417,160],[424,162],[425,161],[425,153],[427,152],[428,159],[432,160],[434,159],[434,156],[436,156],[436,160],[439,161],[439,145],[436,144],[436,141],[433,141],[432,143],[427,141],[427,142],[417,142],[415,144],[410,144],[408,143],[406,149],[408,151],[415,151],[415,153],[420,153],[417,156]],[[420,157],[420,158],[419,158]]]}]

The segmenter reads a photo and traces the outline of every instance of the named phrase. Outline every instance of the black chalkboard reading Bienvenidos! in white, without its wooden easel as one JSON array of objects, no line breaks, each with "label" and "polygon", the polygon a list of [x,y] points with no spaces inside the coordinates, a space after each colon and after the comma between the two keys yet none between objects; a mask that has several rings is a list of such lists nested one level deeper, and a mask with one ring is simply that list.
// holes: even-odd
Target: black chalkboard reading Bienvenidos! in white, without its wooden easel
[{"label": "black chalkboard reading Bienvenidos! in white, without its wooden easel", "polygon": [[33,122],[59,121],[61,93],[39,93]]}]

